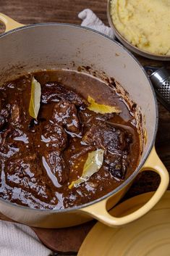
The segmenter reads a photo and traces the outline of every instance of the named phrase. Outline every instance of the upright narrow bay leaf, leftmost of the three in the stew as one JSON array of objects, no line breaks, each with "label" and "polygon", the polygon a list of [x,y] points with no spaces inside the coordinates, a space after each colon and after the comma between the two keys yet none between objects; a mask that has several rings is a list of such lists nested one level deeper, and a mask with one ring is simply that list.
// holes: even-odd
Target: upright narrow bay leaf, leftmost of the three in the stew
[{"label": "upright narrow bay leaf, leftmost of the three in the stew", "polygon": [[41,84],[38,83],[34,77],[31,82],[31,95],[30,95],[30,106],[29,113],[30,116],[37,119],[38,112],[40,110],[40,102],[41,102]]}]

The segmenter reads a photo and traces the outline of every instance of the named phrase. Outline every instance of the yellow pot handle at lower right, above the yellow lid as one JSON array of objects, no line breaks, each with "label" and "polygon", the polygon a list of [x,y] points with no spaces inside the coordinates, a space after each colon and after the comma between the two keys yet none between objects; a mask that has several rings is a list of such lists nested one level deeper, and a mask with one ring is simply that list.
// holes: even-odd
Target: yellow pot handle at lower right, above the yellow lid
[{"label": "yellow pot handle at lower right, above the yellow lid", "polygon": [[154,172],[158,173],[158,175],[161,177],[161,182],[158,186],[158,189],[153,194],[153,197],[151,197],[145,205],[140,207],[140,209],[124,217],[114,217],[111,216],[106,210],[106,203],[108,200],[106,199],[96,203],[95,205],[84,207],[81,209],[81,211],[85,212],[90,216],[93,216],[93,218],[111,227],[122,226],[142,217],[143,215],[145,215],[145,213],[150,211],[156,205],[156,203],[161,199],[169,185],[169,173],[163,165],[163,162],[161,162],[161,160],[159,159],[158,154],[156,154],[155,146],[153,146],[153,149],[150,152],[150,155],[146,160],[145,164],[143,165],[143,168],[141,168],[140,172],[143,172],[145,170],[153,170]]}]

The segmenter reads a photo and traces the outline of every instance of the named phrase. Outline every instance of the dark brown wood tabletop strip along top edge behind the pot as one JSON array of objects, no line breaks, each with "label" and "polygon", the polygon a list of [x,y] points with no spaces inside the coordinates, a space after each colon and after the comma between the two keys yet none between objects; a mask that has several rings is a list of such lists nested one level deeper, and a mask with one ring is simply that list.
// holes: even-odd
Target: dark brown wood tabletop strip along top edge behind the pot
[{"label": "dark brown wood tabletop strip along top edge behind the pot", "polygon": [[103,21],[106,19],[106,0],[8,0],[0,1],[0,12],[23,24],[35,22],[80,23],[82,9],[92,9]]}]

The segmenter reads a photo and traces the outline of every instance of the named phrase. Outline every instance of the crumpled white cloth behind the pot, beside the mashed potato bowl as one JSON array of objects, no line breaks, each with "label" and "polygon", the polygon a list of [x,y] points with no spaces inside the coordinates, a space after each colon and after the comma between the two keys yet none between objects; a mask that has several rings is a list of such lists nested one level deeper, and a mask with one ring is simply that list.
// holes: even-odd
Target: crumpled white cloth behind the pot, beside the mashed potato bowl
[{"label": "crumpled white cloth behind the pot, beside the mashed potato bowl", "polygon": [[79,13],[78,17],[82,20],[82,26],[93,28],[98,32],[105,34],[111,38],[115,38],[114,31],[104,25],[104,23],[92,12],[91,9],[84,9],[82,12]]}]

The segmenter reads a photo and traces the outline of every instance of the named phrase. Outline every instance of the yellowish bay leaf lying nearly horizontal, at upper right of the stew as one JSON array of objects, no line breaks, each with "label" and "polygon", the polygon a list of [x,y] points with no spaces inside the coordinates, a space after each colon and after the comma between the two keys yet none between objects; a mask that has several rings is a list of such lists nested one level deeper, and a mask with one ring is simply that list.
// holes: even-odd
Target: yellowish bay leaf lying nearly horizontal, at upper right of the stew
[{"label": "yellowish bay leaf lying nearly horizontal, at upper right of the stew", "polygon": [[98,104],[97,102],[95,102],[95,100],[91,96],[88,96],[88,102],[90,103],[90,105],[88,106],[88,110],[91,110],[96,113],[101,113],[101,114],[117,113],[117,114],[119,114],[120,112],[122,112],[121,110],[119,110],[119,107],[107,106],[105,104]]}]

